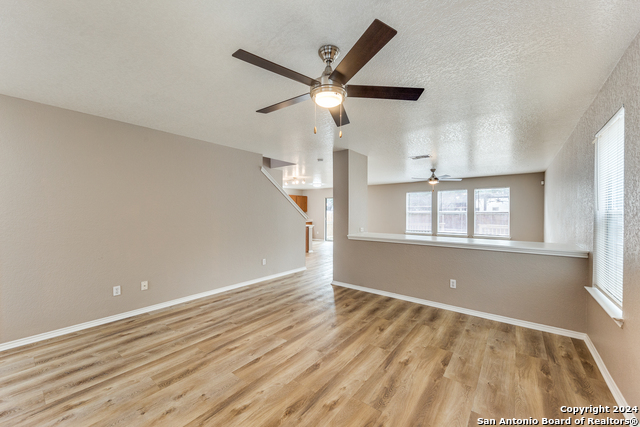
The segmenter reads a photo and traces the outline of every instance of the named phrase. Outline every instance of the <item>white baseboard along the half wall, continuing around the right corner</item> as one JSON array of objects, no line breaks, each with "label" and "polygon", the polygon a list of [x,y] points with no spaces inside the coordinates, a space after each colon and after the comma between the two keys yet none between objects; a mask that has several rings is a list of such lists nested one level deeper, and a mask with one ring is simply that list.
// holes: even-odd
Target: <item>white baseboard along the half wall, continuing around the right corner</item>
[{"label": "white baseboard along the half wall, continuing around the right corner", "polygon": [[[483,311],[476,311],[468,308],[456,307],[454,305],[443,304],[443,303],[429,301],[421,298],[410,297],[407,295],[396,294],[393,292],[381,291],[379,289],[366,288],[364,286],[352,285],[350,283],[338,282],[336,280],[331,282],[331,284],[336,286],[341,286],[344,288],[356,289],[358,291],[369,292],[376,295],[382,295],[385,297],[396,298],[403,301],[414,302],[416,304],[442,308],[444,310],[454,311],[456,313],[463,313],[463,314],[468,314],[470,316],[482,317],[483,319],[495,320],[497,322],[508,323],[510,325],[521,326],[523,328],[535,329],[537,331],[549,332],[552,334],[564,335],[570,338],[577,338],[577,339],[583,340],[587,344],[589,351],[591,351],[593,360],[595,360],[596,364],[598,365],[598,369],[600,369],[600,373],[602,374],[607,385],[609,386],[609,390],[611,390],[611,394],[613,394],[613,397],[616,400],[616,403],[618,404],[618,406],[627,406],[627,401],[625,400],[624,396],[620,392],[620,389],[618,388],[615,381],[613,380],[613,377],[611,377],[611,374],[609,373],[609,370],[604,364],[604,361],[600,357],[598,350],[596,349],[595,345],[591,341],[591,338],[589,338],[589,335],[585,334],[584,332],[571,331],[569,329],[557,328],[555,326],[543,325],[541,323],[529,322],[526,320],[500,316],[497,314],[485,313]],[[625,416],[627,418],[634,417],[631,414],[625,414]]]}]

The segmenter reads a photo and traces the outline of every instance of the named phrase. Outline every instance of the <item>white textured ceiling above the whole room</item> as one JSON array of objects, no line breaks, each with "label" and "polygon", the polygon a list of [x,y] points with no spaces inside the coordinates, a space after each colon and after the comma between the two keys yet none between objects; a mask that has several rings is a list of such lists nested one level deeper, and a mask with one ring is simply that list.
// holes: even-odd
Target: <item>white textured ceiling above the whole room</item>
[{"label": "white textured ceiling above the whole room", "polygon": [[[352,84],[424,87],[417,102],[347,99],[339,139],[306,86],[378,18],[398,35]],[[0,1],[0,93],[294,162],[332,180],[332,151],[369,156],[371,184],[543,171],[640,30],[635,0]],[[429,153],[427,160],[408,157]],[[323,158],[323,162],[318,162]]]}]

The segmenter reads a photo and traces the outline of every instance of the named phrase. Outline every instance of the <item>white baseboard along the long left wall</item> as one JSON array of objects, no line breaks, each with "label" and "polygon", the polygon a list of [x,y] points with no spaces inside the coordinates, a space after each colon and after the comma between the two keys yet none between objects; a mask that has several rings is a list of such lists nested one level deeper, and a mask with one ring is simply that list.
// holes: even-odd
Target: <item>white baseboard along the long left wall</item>
[{"label": "white baseboard along the long left wall", "polygon": [[83,329],[93,328],[94,326],[104,325],[106,323],[115,322],[116,320],[126,319],[128,317],[137,316],[139,314],[149,313],[151,311],[160,310],[162,308],[171,307],[172,305],[182,304],[185,302],[193,301],[196,299],[208,297],[215,294],[220,294],[223,292],[227,292],[233,289],[242,288],[244,286],[254,285],[256,283],[265,282],[267,280],[278,279],[280,277],[288,276],[290,274],[298,273],[300,271],[306,270],[307,267],[296,268],[294,270],[284,271],[282,273],[272,274],[270,276],[259,277],[253,280],[247,280],[246,282],[236,283],[234,285],[224,286],[222,288],[212,289],[210,291],[201,292],[199,294],[189,295],[186,297],[174,299],[171,301],[162,302],[160,304],[150,305],[148,307],[139,308],[137,310],[127,311],[120,314],[115,314],[109,317],[103,317],[101,319],[91,320],[85,323],[79,323],[77,325],[68,326],[62,329],[56,329],[54,331],[44,332],[38,335],[32,335],[26,338],[20,338],[15,341],[9,341],[3,344],[0,344],[0,351],[9,350],[12,348],[20,347],[27,344],[33,344],[38,341],[44,341],[51,338],[59,337],[61,335],[69,334],[72,332],[82,331]]}]

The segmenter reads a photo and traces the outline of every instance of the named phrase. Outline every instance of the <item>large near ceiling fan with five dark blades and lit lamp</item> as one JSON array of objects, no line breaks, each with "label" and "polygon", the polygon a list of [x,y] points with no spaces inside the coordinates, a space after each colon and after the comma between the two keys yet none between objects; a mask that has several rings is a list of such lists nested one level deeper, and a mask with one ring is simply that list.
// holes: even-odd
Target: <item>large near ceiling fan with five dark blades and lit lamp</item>
[{"label": "large near ceiling fan with five dark blades and lit lamp", "polygon": [[287,99],[269,107],[258,110],[258,113],[271,113],[299,102],[313,99],[315,103],[327,108],[336,122],[336,126],[349,124],[349,118],[342,105],[346,97],[379,98],[417,101],[424,91],[423,88],[392,87],[392,86],[358,86],[347,85],[349,80],[364,65],[369,62],[388,42],[397,31],[379,20],[374,20],[364,34],[356,42],[335,70],[331,64],[340,54],[340,49],[333,45],[324,45],[318,50],[318,55],[325,62],[324,72],[317,79],[312,79],[293,70],[260,58],[245,50],[239,49],[232,56],[248,62],[267,71],[290,78],[309,86],[309,93]]}]

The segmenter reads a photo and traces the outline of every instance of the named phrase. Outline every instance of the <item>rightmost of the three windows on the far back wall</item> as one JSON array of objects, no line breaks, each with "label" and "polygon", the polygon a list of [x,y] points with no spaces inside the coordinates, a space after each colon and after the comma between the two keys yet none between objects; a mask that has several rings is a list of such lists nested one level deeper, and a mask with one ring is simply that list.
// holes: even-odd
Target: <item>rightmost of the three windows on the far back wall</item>
[{"label": "rightmost of the three windows on the far back wall", "polygon": [[478,188],[474,199],[473,234],[509,237],[509,188]]}]

